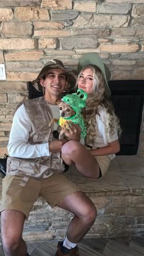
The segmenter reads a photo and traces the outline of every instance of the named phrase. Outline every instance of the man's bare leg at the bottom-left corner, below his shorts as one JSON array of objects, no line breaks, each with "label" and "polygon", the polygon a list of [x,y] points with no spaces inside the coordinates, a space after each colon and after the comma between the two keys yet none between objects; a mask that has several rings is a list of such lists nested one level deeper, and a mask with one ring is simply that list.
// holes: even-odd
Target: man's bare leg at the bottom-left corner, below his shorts
[{"label": "man's bare leg at the bottom-left corner, below his shorts", "polygon": [[26,256],[26,243],[22,238],[25,215],[21,211],[1,212],[1,238],[5,256]]}]

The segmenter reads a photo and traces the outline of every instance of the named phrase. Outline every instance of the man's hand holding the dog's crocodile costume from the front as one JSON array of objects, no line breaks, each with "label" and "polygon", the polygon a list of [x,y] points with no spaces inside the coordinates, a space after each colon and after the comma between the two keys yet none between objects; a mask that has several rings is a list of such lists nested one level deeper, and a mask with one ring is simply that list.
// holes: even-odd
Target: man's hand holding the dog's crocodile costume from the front
[{"label": "man's hand holding the dog's crocodile costume from the front", "polygon": [[75,125],[72,122],[67,122],[67,126],[63,126],[62,130],[69,140],[73,139],[74,141],[80,141],[81,128],[79,127],[79,125]]}]

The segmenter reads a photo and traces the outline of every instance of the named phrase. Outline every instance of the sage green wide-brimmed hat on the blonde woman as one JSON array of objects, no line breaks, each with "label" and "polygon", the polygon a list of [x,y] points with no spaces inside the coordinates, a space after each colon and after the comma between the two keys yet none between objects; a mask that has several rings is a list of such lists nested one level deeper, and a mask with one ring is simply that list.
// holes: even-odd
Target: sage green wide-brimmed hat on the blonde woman
[{"label": "sage green wide-brimmed hat on the blonde woman", "polygon": [[103,59],[101,59],[101,57],[97,53],[84,54],[84,56],[79,60],[79,64],[77,67],[78,73],[87,65],[95,65],[99,68],[99,70],[101,70],[101,73],[103,74],[104,79],[106,81],[106,95],[107,97],[110,97],[111,92],[108,86],[108,82],[110,80],[111,75],[109,68],[106,66],[106,64],[104,64]]}]

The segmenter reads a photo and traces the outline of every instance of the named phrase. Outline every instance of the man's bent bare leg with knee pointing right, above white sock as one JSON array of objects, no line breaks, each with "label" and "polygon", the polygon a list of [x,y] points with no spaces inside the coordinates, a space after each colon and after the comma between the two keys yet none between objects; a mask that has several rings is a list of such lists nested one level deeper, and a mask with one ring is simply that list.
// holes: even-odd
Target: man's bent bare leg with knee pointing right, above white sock
[{"label": "man's bent bare leg with knee pointing right, above white sock", "polygon": [[74,214],[67,230],[67,237],[71,243],[78,243],[96,219],[96,208],[92,201],[81,191],[65,197],[57,206]]}]

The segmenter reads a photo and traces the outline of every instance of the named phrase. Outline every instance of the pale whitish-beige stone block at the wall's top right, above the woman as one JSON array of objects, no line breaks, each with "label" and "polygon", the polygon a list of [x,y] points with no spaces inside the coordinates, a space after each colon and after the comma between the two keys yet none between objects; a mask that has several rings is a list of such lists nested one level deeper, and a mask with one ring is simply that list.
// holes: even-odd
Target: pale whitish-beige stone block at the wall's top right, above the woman
[{"label": "pale whitish-beige stone block at the wall's top right, above the woman", "polygon": [[130,3],[103,3],[97,4],[98,13],[109,14],[127,14],[131,10],[132,5]]}]

